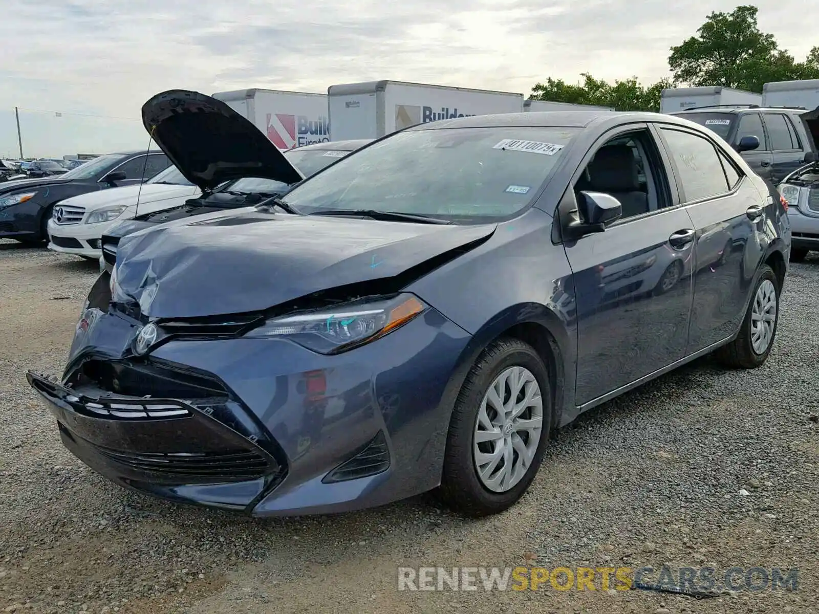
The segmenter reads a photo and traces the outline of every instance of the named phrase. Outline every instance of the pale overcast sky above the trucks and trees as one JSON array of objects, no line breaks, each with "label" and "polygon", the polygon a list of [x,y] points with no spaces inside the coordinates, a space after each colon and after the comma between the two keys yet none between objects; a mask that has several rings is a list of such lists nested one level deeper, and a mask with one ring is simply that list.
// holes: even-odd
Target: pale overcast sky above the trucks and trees
[{"label": "pale overcast sky above the trucks and trees", "polygon": [[[651,82],[667,76],[668,47],[738,3],[2,0],[0,155],[16,156],[15,106],[26,156],[145,147],[139,107],[170,88],[326,93],[396,79],[528,96],[586,71]],[[755,4],[797,59],[819,43],[804,2]]]}]

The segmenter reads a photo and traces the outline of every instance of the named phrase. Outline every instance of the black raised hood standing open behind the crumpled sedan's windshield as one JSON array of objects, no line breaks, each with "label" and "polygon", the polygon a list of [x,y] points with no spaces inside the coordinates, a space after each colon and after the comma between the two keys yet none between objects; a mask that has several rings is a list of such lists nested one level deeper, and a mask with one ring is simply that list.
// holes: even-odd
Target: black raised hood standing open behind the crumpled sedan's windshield
[{"label": "black raised hood standing open behind the crumpled sedan's windshield", "polygon": [[143,125],[176,168],[202,189],[242,177],[304,177],[250,121],[206,94],[171,89],[143,105]]}]

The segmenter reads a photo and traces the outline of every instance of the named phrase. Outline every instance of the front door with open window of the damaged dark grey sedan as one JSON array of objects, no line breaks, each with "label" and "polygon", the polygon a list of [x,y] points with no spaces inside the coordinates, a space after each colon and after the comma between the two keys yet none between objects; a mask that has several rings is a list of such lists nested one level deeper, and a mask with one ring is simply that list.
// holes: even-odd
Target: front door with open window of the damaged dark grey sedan
[{"label": "front door with open window of the damaged dark grey sedan", "polygon": [[601,140],[574,183],[575,197],[609,193],[623,217],[564,243],[577,309],[578,405],[681,359],[692,296],[695,232],[667,187],[654,137],[644,127]]}]

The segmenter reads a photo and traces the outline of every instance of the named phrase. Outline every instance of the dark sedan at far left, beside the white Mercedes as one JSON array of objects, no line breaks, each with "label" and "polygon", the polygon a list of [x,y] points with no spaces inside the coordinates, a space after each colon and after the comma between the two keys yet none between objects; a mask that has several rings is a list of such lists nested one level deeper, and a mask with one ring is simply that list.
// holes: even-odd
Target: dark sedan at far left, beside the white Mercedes
[{"label": "dark sedan at far left, beside the white Mercedes", "polygon": [[0,185],[0,238],[20,242],[48,240],[54,205],[71,196],[129,186],[170,165],[161,151],[125,151],[89,160],[57,177],[18,179]]}]

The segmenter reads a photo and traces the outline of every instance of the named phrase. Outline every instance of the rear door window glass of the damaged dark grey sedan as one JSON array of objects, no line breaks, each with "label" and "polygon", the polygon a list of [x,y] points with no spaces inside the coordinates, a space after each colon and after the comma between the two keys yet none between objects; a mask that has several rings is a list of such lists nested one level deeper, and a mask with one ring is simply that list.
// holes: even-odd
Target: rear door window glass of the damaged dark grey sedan
[{"label": "rear door window glass of the damaged dark grey sedan", "polygon": [[661,130],[676,165],[686,202],[728,192],[722,162],[708,139],[679,130]]}]

